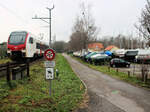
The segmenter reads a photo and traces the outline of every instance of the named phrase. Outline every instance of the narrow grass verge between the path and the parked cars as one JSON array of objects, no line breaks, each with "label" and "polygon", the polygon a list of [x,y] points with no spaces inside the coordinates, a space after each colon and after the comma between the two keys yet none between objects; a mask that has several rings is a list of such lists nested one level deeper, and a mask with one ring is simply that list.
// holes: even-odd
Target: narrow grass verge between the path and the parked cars
[{"label": "narrow grass verge between the path and the parked cars", "polygon": [[110,68],[110,70],[109,70],[108,66],[106,66],[106,65],[105,66],[104,65],[96,66],[96,65],[93,65],[93,64],[89,64],[89,63],[81,60],[80,58],[77,58],[77,57],[73,57],[73,58],[78,60],[82,64],[85,64],[89,68],[92,68],[94,70],[100,71],[100,72],[102,72],[104,74],[107,74],[107,75],[110,75],[110,76],[112,76],[114,78],[117,78],[117,79],[129,82],[129,83],[131,83],[133,85],[136,85],[136,86],[150,88],[150,81],[148,81],[148,83],[144,83],[144,82],[141,81],[140,78],[137,78],[135,76],[128,77],[127,73],[119,72],[119,71],[116,72],[116,69],[114,69],[114,68]]}]

